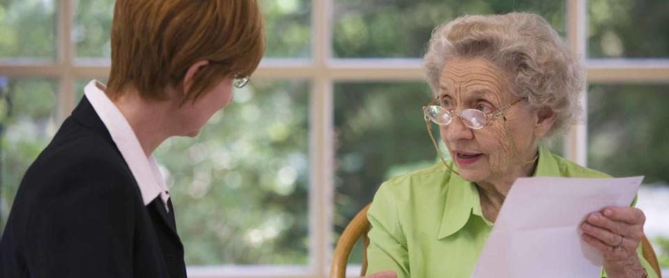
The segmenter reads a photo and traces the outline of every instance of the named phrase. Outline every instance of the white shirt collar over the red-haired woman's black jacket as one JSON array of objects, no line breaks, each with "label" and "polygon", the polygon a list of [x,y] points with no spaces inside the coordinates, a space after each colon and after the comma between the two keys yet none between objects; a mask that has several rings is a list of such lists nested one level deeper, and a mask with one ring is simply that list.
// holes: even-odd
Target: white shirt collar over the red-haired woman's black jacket
[{"label": "white shirt collar over the red-haired woman's black jacket", "polygon": [[128,163],[130,172],[132,172],[132,176],[137,181],[137,186],[139,186],[144,206],[160,195],[165,208],[169,211],[167,206],[169,192],[153,155],[148,157],[144,155],[144,150],[141,149],[139,140],[132,131],[128,120],[98,86],[105,88],[102,83],[92,80],[84,88],[84,94],[86,99],[91,102],[95,113],[98,113],[98,117],[107,127],[109,134],[112,135],[112,140],[114,140],[118,150],[121,151],[125,163]]}]

